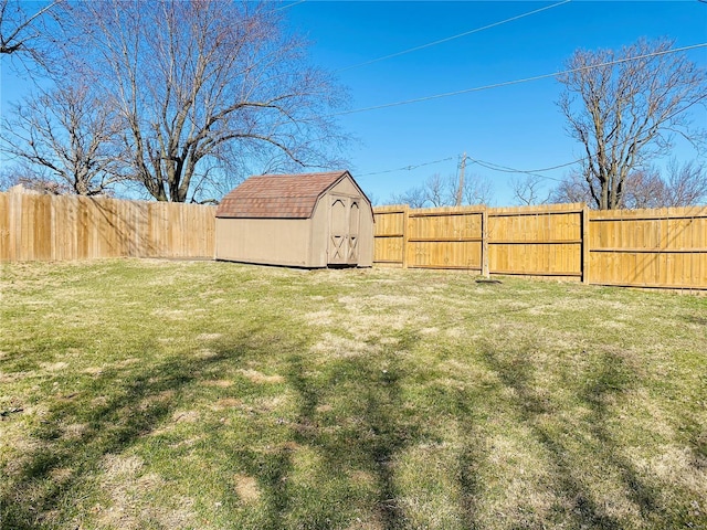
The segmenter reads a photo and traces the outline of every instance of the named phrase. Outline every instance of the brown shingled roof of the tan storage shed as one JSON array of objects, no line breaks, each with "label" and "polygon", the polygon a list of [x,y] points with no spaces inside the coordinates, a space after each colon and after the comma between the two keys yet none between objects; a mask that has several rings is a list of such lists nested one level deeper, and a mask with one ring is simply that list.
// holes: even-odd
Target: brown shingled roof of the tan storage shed
[{"label": "brown shingled roof of the tan storage shed", "polygon": [[217,218],[308,219],[317,200],[348,171],[251,177],[226,194]]}]

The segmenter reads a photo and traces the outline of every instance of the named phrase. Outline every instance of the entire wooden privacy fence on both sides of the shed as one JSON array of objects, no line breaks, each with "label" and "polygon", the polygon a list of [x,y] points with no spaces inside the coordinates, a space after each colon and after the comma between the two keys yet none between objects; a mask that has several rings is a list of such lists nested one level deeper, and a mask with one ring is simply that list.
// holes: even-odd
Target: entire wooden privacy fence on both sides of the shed
[{"label": "entire wooden privacy fence on both sides of the shed", "polygon": [[[707,290],[707,206],[374,209],[377,266]],[[0,193],[0,262],[212,258],[215,208]]]}]

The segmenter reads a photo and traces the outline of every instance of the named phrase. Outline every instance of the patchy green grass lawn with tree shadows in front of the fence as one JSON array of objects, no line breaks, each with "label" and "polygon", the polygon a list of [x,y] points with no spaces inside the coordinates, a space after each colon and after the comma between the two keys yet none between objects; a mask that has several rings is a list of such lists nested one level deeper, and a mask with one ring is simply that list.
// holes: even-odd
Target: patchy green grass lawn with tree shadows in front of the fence
[{"label": "patchy green grass lawn with tree shadows in front of the fence", "polygon": [[4,264],[2,529],[707,528],[707,298]]}]

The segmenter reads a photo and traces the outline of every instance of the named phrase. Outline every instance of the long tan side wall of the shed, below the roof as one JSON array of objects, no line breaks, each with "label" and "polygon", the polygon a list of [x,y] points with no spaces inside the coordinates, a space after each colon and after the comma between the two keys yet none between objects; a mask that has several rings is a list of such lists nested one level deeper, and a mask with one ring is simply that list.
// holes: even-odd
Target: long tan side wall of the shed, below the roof
[{"label": "long tan side wall of the shed, below the roof", "polygon": [[309,219],[217,219],[217,259],[321,266],[312,263],[310,233]]}]

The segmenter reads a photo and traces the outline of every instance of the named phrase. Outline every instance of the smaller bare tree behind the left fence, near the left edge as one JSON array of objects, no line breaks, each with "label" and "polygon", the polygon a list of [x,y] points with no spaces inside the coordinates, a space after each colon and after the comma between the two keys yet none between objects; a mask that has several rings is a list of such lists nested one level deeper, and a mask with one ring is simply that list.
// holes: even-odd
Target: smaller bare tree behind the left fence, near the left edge
[{"label": "smaller bare tree behind the left fence, near the left edge", "polygon": [[45,170],[41,181],[53,181],[57,190],[105,193],[125,178],[117,117],[89,86],[66,85],[14,105],[10,118],[2,120],[0,150]]}]

